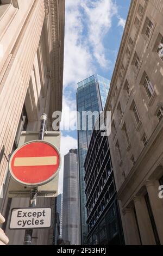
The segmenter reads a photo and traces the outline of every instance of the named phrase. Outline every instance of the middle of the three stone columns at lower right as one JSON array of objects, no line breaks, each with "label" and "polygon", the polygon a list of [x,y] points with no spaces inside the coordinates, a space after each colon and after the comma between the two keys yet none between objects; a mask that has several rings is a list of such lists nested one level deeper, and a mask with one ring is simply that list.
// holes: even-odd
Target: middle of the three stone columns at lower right
[{"label": "middle of the three stone columns at lower right", "polygon": [[145,198],[143,196],[134,197],[134,204],[142,245],[155,245],[156,243]]}]

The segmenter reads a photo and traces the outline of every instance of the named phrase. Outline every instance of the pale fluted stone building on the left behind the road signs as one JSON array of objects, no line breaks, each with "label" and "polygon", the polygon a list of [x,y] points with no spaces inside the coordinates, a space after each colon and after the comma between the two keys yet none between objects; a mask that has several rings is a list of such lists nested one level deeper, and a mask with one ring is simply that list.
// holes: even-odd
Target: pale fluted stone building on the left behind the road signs
[{"label": "pale fluted stone building on the left behind the road signs", "polygon": [[[46,113],[48,136],[52,113],[62,110],[65,0],[0,2],[0,212],[9,245],[23,245],[25,230],[10,230],[9,221],[11,209],[28,207],[29,198],[8,197],[8,161],[22,131],[33,138]],[[37,198],[36,206],[52,207],[53,223],[54,205],[54,197]],[[52,245],[53,228],[35,229],[33,237],[32,245]]]}]

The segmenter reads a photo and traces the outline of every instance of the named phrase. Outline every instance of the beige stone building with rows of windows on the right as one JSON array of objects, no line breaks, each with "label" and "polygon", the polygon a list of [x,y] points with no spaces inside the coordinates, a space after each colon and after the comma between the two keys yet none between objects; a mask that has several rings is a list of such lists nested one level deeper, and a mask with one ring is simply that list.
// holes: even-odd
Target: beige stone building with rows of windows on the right
[{"label": "beige stone building with rows of windows on the right", "polygon": [[131,1],[105,110],[127,245],[163,244],[163,1]]}]

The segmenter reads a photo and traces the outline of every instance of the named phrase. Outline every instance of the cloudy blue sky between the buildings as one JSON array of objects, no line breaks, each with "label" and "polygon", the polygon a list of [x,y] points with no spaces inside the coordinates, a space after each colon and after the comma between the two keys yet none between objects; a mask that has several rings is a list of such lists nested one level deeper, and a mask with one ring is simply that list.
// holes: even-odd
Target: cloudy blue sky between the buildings
[{"label": "cloudy blue sky between the buildings", "polygon": [[[76,84],[93,74],[111,80],[130,0],[66,0],[62,121],[76,111]],[[76,122],[73,115],[72,122]],[[77,148],[77,132],[62,131],[61,155]],[[62,190],[62,170],[59,179]]]}]

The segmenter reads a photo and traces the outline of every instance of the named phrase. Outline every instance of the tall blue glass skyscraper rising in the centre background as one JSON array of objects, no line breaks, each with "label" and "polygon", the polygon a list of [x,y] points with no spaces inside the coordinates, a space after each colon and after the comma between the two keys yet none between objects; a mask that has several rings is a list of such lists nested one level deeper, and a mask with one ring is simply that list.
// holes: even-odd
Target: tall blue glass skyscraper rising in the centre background
[{"label": "tall blue glass skyscraper rising in the centre background", "polygon": [[[82,111],[97,111],[104,109],[106,97],[109,91],[109,81],[99,75],[93,75],[77,84],[77,111],[80,113],[80,124],[78,121],[78,156],[79,156],[79,182],[80,182],[80,222],[82,243],[87,243],[87,212],[84,181],[84,161],[87,148],[91,139],[95,119],[93,119],[91,130],[88,130],[86,120],[82,120]],[[97,115],[98,116],[98,115]],[[85,124],[84,124],[85,122]],[[86,125],[85,130],[82,126]],[[89,124],[90,125],[90,124]]]}]

